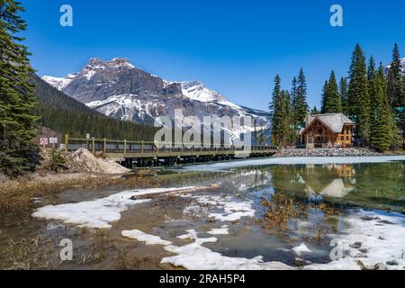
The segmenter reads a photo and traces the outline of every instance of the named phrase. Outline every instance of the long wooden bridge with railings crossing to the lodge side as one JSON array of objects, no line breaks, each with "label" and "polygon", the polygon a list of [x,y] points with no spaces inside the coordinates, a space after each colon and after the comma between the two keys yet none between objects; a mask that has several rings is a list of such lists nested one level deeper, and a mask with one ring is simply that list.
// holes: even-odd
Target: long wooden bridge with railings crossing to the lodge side
[{"label": "long wooden bridge with railings crossing to the lodge side", "polygon": [[75,139],[65,136],[65,149],[75,151],[86,148],[95,157],[107,157],[120,161],[121,165],[159,166],[181,163],[230,160],[241,157],[271,157],[277,147],[252,145],[245,147],[211,145],[195,147],[186,143],[158,143],[148,141],[128,141],[112,139]]}]

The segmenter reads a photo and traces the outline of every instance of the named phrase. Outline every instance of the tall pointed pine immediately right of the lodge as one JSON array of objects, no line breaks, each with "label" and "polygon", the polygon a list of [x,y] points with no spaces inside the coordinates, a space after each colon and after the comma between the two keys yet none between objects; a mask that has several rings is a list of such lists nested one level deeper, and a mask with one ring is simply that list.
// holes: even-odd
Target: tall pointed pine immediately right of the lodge
[{"label": "tall pointed pine immediately right of the lodge", "polygon": [[359,44],[353,52],[348,78],[347,112],[356,121],[356,136],[367,145],[370,139],[370,97],[365,54]]}]

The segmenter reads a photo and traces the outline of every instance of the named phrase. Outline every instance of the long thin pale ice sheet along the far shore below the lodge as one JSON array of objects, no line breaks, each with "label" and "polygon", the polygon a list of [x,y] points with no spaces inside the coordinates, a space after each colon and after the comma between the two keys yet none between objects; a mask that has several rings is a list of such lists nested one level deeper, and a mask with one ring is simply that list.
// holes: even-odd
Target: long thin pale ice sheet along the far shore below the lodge
[{"label": "long thin pale ice sheet along the far shore below the lodge", "polygon": [[230,168],[243,166],[266,166],[272,164],[356,164],[356,163],[385,163],[390,161],[405,161],[405,156],[377,157],[269,157],[261,159],[238,160],[232,162],[184,166],[182,171],[226,171]]}]

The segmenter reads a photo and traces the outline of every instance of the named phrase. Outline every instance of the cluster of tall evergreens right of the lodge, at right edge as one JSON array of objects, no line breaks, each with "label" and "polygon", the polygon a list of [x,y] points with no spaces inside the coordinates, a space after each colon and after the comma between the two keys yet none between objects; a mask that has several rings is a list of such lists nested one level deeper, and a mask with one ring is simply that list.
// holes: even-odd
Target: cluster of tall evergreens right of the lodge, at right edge
[{"label": "cluster of tall evergreens right of the lodge, at right edge", "polygon": [[[403,125],[403,78],[398,45],[392,53],[392,65],[384,73],[373,57],[368,66],[360,45],[356,45],[349,70],[347,115],[356,121],[356,137],[364,145],[380,151],[399,144]],[[396,123],[396,125],[395,125]]]}]

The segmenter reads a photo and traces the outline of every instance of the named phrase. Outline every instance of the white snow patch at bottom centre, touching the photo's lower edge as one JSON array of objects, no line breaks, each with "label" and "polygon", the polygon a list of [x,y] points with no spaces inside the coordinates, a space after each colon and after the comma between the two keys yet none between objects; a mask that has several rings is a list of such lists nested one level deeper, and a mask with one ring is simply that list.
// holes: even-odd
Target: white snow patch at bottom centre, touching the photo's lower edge
[{"label": "white snow patch at bottom centre, touching the photo's lower edge", "polygon": [[251,259],[241,257],[224,257],[220,253],[213,252],[204,243],[216,242],[217,238],[197,238],[195,242],[178,246],[166,246],[164,249],[168,252],[177,254],[174,257],[165,257],[160,263],[171,264],[173,266],[182,266],[189,270],[286,270],[293,269],[281,262],[263,262],[263,257],[254,257]]}]

